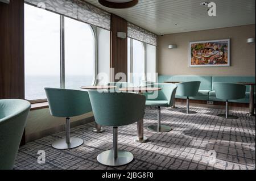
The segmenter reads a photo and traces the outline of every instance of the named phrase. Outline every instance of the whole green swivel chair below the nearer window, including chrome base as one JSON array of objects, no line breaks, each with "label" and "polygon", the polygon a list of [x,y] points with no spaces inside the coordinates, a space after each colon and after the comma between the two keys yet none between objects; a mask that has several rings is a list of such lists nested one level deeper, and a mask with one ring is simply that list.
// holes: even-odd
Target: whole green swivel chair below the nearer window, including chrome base
[{"label": "whole green swivel chair below the nearer window, including chrome base", "polygon": [[92,111],[88,92],[69,89],[45,88],[52,116],[66,117],[66,137],[53,142],[55,149],[72,149],[84,143],[81,138],[70,137],[70,118]]}]

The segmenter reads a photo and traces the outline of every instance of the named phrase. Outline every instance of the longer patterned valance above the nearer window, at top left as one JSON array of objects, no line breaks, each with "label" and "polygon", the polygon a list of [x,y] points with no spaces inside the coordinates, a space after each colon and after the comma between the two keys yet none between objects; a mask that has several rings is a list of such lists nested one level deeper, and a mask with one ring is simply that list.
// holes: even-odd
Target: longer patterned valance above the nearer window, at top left
[{"label": "longer patterned valance above the nearer window, at top left", "polygon": [[81,0],[25,0],[25,2],[110,30],[110,14]]}]

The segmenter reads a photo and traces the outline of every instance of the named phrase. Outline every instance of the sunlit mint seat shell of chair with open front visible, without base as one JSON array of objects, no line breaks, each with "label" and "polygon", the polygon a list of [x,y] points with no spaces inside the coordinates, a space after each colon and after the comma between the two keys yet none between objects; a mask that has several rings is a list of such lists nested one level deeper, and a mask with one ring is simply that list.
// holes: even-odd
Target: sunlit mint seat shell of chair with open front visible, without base
[{"label": "sunlit mint seat shell of chair with open front visible, without base", "polygon": [[[173,98],[175,97],[177,86],[173,83],[154,83],[152,85],[147,85],[147,87],[158,87],[161,90],[155,92],[146,92],[146,100],[167,100],[168,104],[166,106],[171,106]],[[154,96],[156,95],[156,97]]]}]

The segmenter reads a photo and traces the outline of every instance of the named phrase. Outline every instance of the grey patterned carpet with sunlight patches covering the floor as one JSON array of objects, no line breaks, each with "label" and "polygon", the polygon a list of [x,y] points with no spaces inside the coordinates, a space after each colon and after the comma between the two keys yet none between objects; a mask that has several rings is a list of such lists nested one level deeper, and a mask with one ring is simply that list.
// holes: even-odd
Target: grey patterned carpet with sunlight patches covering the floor
[{"label": "grey patterned carpet with sunlight patches covering the floor", "polygon": [[[144,117],[144,144],[135,143],[137,124],[118,128],[118,149],[131,151],[134,161],[121,167],[100,165],[96,157],[112,148],[113,132],[93,133],[94,123],[71,129],[71,135],[84,145],[56,150],[53,141],[65,133],[29,142],[19,149],[14,169],[255,169],[255,117],[240,110],[230,111],[240,118],[226,120],[216,115],[225,110],[191,107],[197,114],[185,115],[181,109],[163,109],[162,123],[173,130],[155,133],[146,127],[157,122],[157,111],[148,109]],[[46,163],[38,163],[38,150],[46,153]]]}]

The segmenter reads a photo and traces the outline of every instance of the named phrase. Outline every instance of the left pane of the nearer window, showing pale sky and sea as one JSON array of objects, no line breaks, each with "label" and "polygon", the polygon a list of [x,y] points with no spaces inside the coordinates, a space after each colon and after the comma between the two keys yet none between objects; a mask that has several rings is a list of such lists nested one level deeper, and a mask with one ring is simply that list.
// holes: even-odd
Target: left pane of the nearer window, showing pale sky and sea
[{"label": "left pane of the nearer window, showing pale sky and sea", "polygon": [[60,88],[60,15],[24,5],[25,99],[46,99]]}]

